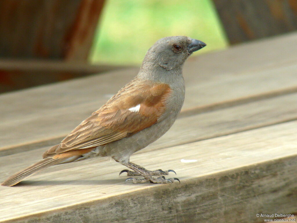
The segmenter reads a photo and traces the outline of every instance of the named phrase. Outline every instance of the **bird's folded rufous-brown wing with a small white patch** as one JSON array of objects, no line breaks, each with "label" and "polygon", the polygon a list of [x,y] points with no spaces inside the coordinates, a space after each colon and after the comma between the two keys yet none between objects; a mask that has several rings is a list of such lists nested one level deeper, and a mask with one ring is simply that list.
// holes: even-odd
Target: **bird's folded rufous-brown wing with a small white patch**
[{"label": "bird's folded rufous-brown wing with a small white patch", "polygon": [[171,92],[167,84],[131,81],[43,158],[104,145],[154,125],[165,113]]}]

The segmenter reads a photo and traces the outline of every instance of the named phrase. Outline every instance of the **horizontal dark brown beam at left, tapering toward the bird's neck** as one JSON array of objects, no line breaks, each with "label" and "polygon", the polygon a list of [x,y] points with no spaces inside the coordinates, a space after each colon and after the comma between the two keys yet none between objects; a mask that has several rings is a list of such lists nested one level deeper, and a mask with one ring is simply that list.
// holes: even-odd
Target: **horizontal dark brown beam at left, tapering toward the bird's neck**
[{"label": "horizontal dark brown beam at left, tapering toward the bird's neck", "polygon": [[129,67],[55,60],[0,59],[0,93]]}]

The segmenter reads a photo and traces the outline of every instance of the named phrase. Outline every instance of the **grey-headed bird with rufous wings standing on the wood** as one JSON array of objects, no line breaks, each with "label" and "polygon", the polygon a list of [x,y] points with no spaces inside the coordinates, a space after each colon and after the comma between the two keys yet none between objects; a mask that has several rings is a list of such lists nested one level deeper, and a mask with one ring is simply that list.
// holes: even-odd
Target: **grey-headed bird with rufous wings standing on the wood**
[{"label": "grey-headed bird with rufous wings standing on the wood", "polygon": [[82,121],[61,143],[50,147],[42,160],[4,180],[14,186],[56,164],[109,156],[129,169],[132,183],[173,183],[164,175],[174,170],[150,171],[130,162],[130,156],[159,139],[173,125],[184,103],[185,60],[206,44],[186,36],[164,37],[147,51],[139,73],[97,111]]}]

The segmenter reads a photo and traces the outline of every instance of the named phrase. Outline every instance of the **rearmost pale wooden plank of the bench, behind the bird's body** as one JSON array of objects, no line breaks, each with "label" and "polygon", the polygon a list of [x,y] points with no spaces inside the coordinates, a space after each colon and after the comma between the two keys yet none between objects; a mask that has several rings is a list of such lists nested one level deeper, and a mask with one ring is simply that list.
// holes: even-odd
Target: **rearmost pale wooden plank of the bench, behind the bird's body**
[{"label": "rearmost pale wooden plank of the bench, behind the bird's body", "polygon": [[[182,113],[234,106],[249,98],[258,101],[263,95],[276,96],[275,92],[296,92],[297,65],[292,60],[297,56],[296,41],[294,33],[190,58],[184,67]],[[0,150],[20,152],[58,143],[137,72],[137,68],[113,71],[1,95]],[[110,85],[110,80],[116,81]]]}]

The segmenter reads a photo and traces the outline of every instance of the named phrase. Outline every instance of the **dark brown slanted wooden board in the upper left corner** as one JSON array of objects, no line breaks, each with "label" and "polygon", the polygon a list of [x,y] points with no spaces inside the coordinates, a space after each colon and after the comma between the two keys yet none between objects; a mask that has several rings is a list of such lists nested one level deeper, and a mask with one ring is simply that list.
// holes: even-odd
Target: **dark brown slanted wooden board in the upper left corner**
[{"label": "dark brown slanted wooden board in the upper left corner", "polygon": [[1,56],[86,62],[103,2],[0,1]]}]

